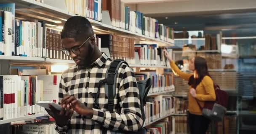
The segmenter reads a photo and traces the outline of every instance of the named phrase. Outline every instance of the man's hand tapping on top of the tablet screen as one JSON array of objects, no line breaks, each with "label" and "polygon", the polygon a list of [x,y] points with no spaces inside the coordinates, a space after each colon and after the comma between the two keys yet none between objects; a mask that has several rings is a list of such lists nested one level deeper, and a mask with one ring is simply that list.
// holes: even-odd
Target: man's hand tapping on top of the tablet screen
[{"label": "man's hand tapping on top of the tablet screen", "polygon": [[65,96],[61,100],[62,108],[72,108],[80,115],[92,116],[93,109],[87,108],[81,101],[78,101],[73,95]]}]

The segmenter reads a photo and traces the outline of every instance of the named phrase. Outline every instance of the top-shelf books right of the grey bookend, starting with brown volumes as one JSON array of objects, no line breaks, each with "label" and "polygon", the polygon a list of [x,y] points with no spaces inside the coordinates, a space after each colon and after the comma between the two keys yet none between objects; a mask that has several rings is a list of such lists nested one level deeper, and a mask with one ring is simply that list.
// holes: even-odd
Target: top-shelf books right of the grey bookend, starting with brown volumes
[{"label": "top-shelf books right of the grey bookend, starting with brown volumes", "polygon": [[[158,24],[154,18],[144,16],[140,11],[131,11],[120,0],[103,0],[102,10],[108,10],[112,25],[163,41],[174,39],[173,28]],[[107,8],[104,8],[107,5]]]}]

